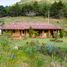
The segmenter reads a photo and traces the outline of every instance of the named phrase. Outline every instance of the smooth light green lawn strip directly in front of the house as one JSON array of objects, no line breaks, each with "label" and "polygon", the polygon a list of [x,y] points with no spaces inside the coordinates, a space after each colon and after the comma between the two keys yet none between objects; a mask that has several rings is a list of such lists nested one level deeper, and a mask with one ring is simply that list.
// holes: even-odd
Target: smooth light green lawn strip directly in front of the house
[{"label": "smooth light green lawn strip directly in front of the house", "polygon": [[44,43],[44,44],[52,44],[58,47],[62,47],[62,48],[67,48],[67,38],[62,38],[60,40],[63,40],[63,42],[51,42],[50,41],[51,38],[27,38],[27,39],[21,39],[21,40],[13,40],[13,43],[15,45],[25,45],[26,42],[30,42],[30,41],[39,41],[39,43]]}]

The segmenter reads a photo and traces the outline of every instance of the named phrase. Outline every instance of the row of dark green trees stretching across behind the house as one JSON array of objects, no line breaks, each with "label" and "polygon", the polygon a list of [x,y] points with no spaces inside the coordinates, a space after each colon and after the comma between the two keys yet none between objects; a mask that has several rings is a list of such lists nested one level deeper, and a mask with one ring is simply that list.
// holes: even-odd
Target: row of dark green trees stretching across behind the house
[{"label": "row of dark green trees stretching across behind the house", "polygon": [[62,1],[54,2],[52,5],[47,3],[38,3],[37,1],[25,4],[14,4],[13,6],[0,6],[0,17],[5,16],[45,16],[48,15],[52,18],[67,17],[67,5]]}]

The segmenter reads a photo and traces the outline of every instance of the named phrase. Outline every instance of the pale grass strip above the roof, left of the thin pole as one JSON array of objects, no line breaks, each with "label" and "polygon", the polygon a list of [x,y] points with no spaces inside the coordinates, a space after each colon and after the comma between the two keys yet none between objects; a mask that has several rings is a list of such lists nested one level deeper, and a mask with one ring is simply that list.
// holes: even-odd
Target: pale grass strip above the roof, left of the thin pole
[{"label": "pale grass strip above the roof, left of the thin pole", "polygon": [[44,17],[3,17],[0,20],[4,20],[5,23],[8,22],[47,22],[48,19]]}]

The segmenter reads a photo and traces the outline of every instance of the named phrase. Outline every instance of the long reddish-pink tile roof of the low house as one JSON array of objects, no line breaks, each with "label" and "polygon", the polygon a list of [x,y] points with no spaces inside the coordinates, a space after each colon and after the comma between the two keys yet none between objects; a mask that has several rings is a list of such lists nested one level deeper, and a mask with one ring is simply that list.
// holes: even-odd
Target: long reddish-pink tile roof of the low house
[{"label": "long reddish-pink tile roof of the low house", "polygon": [[9,23],[3,25],[3,29],[61,29],[58,26],[47,23]]}]

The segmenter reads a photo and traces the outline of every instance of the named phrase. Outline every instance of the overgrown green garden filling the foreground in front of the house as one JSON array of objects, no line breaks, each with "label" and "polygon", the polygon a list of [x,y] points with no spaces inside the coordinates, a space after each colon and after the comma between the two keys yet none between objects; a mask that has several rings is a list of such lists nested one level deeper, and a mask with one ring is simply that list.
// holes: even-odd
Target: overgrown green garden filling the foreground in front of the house
[{"label": "overgrown green garden filling the foreground in front of the house", "polygon": [[67,67],[67,38],[51,40],[0,36],[0,67]]}]

